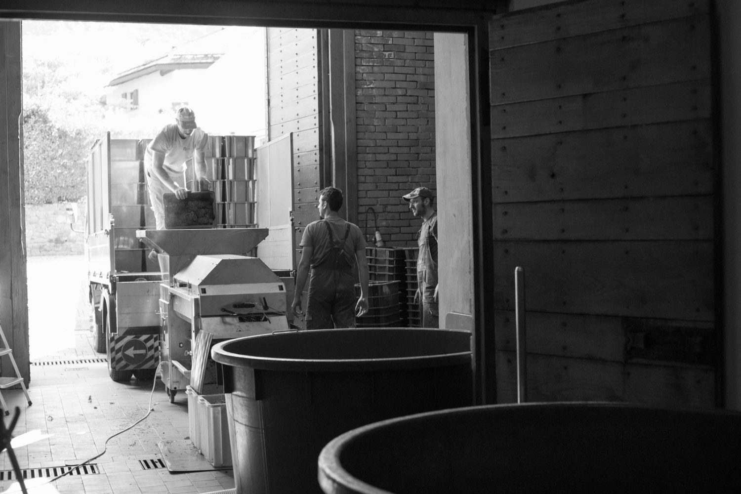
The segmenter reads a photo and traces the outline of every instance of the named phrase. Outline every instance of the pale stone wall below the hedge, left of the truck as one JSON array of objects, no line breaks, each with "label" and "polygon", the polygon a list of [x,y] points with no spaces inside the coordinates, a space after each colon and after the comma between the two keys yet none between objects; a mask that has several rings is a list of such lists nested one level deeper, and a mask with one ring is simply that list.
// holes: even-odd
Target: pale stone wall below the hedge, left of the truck
[{"label": "pale stone wall below the hedge, left of the truck", "polygon": [[[77,208],[77,218],[70,228],[67,204]],[[87,205],[59,202],[26,204],[26,256],[72,256],[84,253],[84,228]]]}]

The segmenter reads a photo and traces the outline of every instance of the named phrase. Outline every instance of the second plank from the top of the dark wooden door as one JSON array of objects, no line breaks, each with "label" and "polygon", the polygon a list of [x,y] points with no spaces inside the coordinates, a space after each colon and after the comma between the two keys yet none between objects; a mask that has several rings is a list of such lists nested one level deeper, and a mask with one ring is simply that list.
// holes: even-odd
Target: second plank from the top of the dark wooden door
[{"label": "second plank from the top of the dark wooden door", "polygon": [[706,79],[709,40],[710,20],[702,16],[496,50],[491,56],[492,102]]}]

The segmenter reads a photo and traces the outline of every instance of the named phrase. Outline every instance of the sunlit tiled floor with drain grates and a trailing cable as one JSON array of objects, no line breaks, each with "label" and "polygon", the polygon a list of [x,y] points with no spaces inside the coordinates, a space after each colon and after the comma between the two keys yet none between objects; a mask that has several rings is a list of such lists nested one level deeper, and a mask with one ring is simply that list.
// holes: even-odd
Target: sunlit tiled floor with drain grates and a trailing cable
[{"label": "sunlit tiled floor with drain grates and a trailing cable", "polygon": [[[42,357],[32,353],[30,407],[21,390],[2,390],[11,410],[11,415],[4,418],[5,424],[10,424],[14,408],[19,407],[20,418],[13,436],[33,441],[13,448],[21,470],[27,470],[28,492],[233,493],[230,470],[172,474],[158,461],[162,459],[158,441],[189,435],[186,395],[179,393],[176,402],[170,404],[159,379],[153,393],[152,381],[111,381],[104,355],[95,353],[90,344],[88,310],[79,304],[73,347]],[[146,415],[150,400],[150,415],[132,429],[110,438],[106,446],[107,438]],[[95,466],[93,473],[65,475],[49,483],[55,475],[47,475],[45,469],[77,465],[96,455],[99,458],[90,461]],[[156,468],[147,468],[152,466]],[[44,469],[42,476],[30,478],[32,473],[38,477],[37,469]],[[0,490],[20,493],[19,484],[7,480],[10,470],[13,467],[4,451],[0,453]],[[87,470],[90,472],[90,468]]]}]

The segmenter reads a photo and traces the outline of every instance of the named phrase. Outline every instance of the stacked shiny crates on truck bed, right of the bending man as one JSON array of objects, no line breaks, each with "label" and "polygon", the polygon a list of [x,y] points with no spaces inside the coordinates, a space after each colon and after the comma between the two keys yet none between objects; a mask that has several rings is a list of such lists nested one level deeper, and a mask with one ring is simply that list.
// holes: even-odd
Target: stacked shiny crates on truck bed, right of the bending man
[{"label": "stacked shiny crates on truck bed, right of the bending man", "polygon": [[207,178],[220,228],[256,227],[255,138],[209,136]]}]

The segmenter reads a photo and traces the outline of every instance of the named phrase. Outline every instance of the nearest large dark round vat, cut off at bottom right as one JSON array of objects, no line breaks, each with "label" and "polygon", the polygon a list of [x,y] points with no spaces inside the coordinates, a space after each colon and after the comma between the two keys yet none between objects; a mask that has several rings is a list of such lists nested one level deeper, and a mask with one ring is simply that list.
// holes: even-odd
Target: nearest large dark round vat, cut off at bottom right
[{"label": "nearest large dark round vat, cut off at bottom right", "polygon": [[319,456],[327,494],[741,493],[741,414],[607,403],[393,418]]}]

